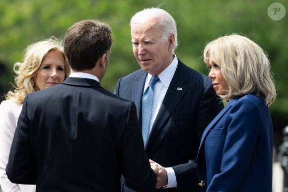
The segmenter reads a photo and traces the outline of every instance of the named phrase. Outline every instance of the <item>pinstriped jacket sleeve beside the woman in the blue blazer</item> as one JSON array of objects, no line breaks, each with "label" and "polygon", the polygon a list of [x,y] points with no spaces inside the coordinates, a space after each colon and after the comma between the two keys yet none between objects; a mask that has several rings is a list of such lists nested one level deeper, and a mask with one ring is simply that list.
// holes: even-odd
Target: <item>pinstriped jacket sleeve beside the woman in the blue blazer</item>
[{"label": "pinstriped jacket sleeve beside the woman in the blue blazer", "polygon": [[196,158],[201,137],[205,128],[222,109],[223,102],[216,95],[212,83],[209,83],[202,95],[197,112],[195,128],[198,140],[194,142],[195,159],[190,159],[187,163],[172,167],[176,175],[178,191],[193,189],[195,186],[198,186],[199,179],[197,176]]}]

